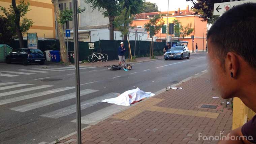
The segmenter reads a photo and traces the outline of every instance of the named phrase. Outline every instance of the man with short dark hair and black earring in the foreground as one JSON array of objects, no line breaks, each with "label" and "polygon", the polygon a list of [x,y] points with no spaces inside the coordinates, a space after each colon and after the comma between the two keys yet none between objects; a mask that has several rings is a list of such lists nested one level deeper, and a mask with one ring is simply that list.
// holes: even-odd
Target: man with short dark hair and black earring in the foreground
[{"label": "man with short dark hair and black earring in the foreground", "polygon": [[[256,3],[225,12],[207,32],[214,87],[222,98],[240,98],[256,112]],[[230,137],[238,137],[231,140]],[[239,139],[239,136],[244,136]],[[248,139],[249,138],[249,139]],[[219,144],[256,143],[256,116]]]}]

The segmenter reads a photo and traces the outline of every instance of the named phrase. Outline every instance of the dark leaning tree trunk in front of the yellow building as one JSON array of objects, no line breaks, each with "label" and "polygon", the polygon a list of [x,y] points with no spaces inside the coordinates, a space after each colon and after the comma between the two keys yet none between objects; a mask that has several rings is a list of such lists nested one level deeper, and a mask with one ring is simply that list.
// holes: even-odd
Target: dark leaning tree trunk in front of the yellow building
[{"label": "dark leaning tree trunk in front of the yellow building", "polygon": [[17,9],[16,6],[16,1],[15,0],[11,0],[11,4],[15,13],[15,20],[14,20],[14,24],[15,24],[15,30],[17,32],[17,36],[19,38],[19,44],[20,44],[20,48],[24,48],[24,41],[23,41],[23,35],[21,32],[21,27],[20,27],[20,20],[21,20],[21,16],[20,16],[20,11]]}]

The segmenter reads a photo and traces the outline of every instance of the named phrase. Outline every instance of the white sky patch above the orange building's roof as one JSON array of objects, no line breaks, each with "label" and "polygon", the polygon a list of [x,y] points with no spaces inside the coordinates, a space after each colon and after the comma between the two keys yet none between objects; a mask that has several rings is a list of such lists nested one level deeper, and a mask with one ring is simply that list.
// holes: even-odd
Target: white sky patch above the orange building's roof
[{"label": "white sky patch above the orange building's roof", "polygon": [[[167,11],[168,0],[146,0],[152,3],[156,3],[159,11]],[[186,9],[189,5],[189,9],[192,7],[192,2],[187,2],[186,0],[169,0],[169,11]]]}]

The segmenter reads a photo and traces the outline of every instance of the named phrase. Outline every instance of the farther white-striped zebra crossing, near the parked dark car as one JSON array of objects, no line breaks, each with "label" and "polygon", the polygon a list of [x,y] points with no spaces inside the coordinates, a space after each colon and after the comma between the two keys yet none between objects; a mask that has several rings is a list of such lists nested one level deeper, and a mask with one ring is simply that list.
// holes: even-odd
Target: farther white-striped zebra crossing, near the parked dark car
[{"label": "farther white-striped zebra crossing, near the parked dark car", "polygon": [[[95,67],[87,67],[87,66],[80,66],[79,69],[91,69]],[[22,75],[34,75],[34,74],[43,74],[43,73],[53,73],[53,72],[61,72],[61,71],[70,71],[75,70],[73,65],[69,66],[57,66],[57,67],[39,67],[39,68],[30,68],[30,69],[17,69],[17,70],[6,70],[0,71],[0,78],[1,77],[18,77]]]}]

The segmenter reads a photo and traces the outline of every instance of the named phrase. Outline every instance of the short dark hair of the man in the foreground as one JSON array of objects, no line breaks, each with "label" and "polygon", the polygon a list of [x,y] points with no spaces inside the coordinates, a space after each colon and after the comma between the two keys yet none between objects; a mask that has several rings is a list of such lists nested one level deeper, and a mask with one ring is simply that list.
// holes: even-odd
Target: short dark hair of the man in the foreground
[{"label": "short dark hair of the man in the foreground", "polygon": [[256,3],[235,6],[220,16],[207,32],[207,39],[222,64],[228,52],[241,56],[256,68]]}]

